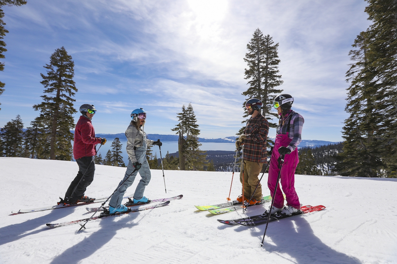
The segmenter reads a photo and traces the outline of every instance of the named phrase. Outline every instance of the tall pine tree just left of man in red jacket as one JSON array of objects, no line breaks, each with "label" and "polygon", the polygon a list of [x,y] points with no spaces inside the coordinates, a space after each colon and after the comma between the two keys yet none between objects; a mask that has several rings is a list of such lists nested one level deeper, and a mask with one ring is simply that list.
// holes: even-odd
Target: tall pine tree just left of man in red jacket
[{"label": "tall pine tree just left of man in red jacket", "polygon": [[64,47],[56,49],[50,57],[50,64],[46,64],[47,75],[40,74],[43,80],[40,82],[46,88],[44,101],[33,108],[40,110],[38,121],[45,127],[46,136],[50,139],[50,159],[71,160],[71,140],[74,128],[73,114],[77,113],[73,108],[72,98],[77,92],[74,76],[74,62],[67,54]]}]

